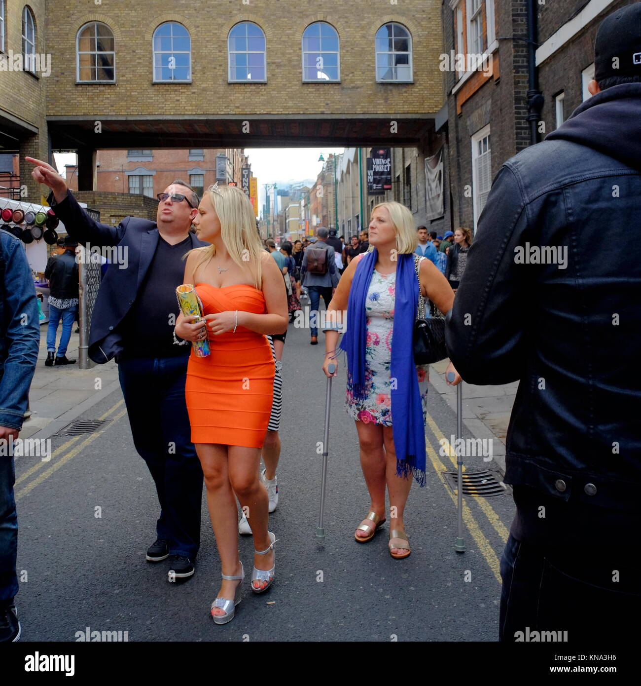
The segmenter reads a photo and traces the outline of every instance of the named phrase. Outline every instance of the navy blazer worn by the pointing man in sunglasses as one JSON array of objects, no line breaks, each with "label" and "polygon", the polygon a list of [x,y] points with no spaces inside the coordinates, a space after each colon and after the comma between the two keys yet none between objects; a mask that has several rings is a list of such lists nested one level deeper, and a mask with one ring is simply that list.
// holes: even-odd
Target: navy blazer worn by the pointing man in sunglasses
[{"label": "navy blazer worn by the pointing man in sunglasses", "polygon": [[[82,209],[71,191],[59,203],[51,193],[48,202],[56,209],[56,216],[60,217],[67,233],[78,243],[101,247],[122,246],[126,250],[127,268],[119,269],[117,265],[112,265],[106,271],[91,316],[88,355],[94,362],[104,364],[123,351],[118,324],[134,304],[138,289],[152,263],[160,235],[158,226],[156,222],[138,217],[125,217],[118,226],[99,224]],[[199,241],[193,232],[189,233],[189,237],[190,250],[208,245]]]}]

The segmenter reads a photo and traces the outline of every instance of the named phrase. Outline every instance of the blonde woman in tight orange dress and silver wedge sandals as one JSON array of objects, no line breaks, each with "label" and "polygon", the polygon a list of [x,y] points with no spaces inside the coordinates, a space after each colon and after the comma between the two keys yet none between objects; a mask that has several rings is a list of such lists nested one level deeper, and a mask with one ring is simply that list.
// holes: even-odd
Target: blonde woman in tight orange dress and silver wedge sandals
[{"label": "blonde woman in tight orange dress and silver wedge sandals", "polygon": [[222,565],[223,581],[211,615],[216,624],[226,624],[241,600],[244,577],[234,493],[254,536],[252,591],[262,593],[274,580],[276,536],[267,530],[267,490],[258,478],[258,465],[275,372],[265,334],[287,329],[287,295],[241,189],[210,187],[193,225],[198,238],[211,245],[189,253],[184,283],[195,285],[206,330],[203,322],[192,323],[193,318],[181,314],[176,335],[190,341],[208,336],[210,344],[208,357],[191,353],[185,397]]}]

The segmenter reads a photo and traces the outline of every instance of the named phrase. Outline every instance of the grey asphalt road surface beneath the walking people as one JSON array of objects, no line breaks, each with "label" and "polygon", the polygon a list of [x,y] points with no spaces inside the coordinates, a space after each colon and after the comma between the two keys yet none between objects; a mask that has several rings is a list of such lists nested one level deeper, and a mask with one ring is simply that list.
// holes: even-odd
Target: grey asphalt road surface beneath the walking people
[{"label": "grey asphalt road surface beneath the walking people", "polygon": [[[111,410],[110,423],[97,434],[71,442],[54,438],[53,451],[66,447],[51,462],[16,458],[21,640],[75,641],[76,632],[89,627],[126,631],[129,641],[496,641],[498,560],[513,502],[509,495],[465,497],[466,551],[455,552],[454,495],[442,477],[452,462],[439,456],[432,427],[449,437],[456,421],[436,393],[429,410],[433,424],[426,428],[433,448],[427,486],[413,485],[406,511],[412,553],[394,560],[387,552],[387,524],[370,543],[354,541],[369,499],[356,430],[343,408],[341,363],[332,392],[326,539],[317,542],[323,352],[322,334],[320,344],[310,346],[309,332],[290,326],[280,503],[270,517],[279,539],[276,581],[267,593],[251,593],[245,578],[236,617],[224,626],[212,622],[209,606],[220,567],[204,497],[195,576],[170,583],[169,560],[145,562],[156,537],[158,504],[118,391],[82,416],[96,419]],[[479,458],[471,462],[472,469],[495,468]],[[240,551],[251,569],[251,537],[241,537]]]}]

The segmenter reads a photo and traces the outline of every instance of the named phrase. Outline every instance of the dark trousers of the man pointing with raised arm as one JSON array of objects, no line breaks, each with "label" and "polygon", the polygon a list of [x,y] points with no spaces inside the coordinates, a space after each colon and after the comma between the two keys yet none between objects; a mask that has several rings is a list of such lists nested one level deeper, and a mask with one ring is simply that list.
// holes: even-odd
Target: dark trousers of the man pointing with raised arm
[{"label": "dark trousers of the man pointing with raised arm", "polygon": [[194,560],[203,477],[184,399],[188,360],[189,355],[125,357],[119,359],[118,375],[134,445],[158,492],[156,534],[169,541],[170,554]]}]

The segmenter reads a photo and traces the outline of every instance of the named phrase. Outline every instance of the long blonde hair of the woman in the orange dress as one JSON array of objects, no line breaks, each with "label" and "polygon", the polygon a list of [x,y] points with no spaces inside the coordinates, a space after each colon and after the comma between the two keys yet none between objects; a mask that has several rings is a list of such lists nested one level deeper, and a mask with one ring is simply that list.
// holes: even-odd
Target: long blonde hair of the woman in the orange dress
[{"label": "long blonde hair of the woman in the orange dress", "polygon": [[[214,187],[215,191],[212,190]],[[260,289],[263,283],[261,259],[265,250],[256,230],[256,217],[250,199],[236,186],[210,186],[205,192],[209,194],[209,200],[220,220],[221,237],[230,257],[239,267],[250,268],[254,285]],[[195,250],[201,255],[194,273],[202,263],[208,262],[216,254],[214,245]]]}]

